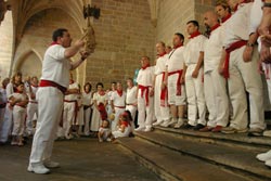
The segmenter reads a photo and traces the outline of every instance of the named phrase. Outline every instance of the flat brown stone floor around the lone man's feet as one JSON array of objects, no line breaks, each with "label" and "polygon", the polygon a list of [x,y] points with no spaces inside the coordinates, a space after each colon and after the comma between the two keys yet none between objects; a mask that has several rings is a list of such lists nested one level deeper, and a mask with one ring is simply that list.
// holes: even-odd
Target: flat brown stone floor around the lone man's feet
[{"label": "flat brown stone floor around the lone man's feet", "polygon": [[56,141],[53,159],[61,168],[49,174],[27,172],[30,144],[0,146],[0,181],[159,181],[156,174],[131,159],[118,144],[80,138]]}]

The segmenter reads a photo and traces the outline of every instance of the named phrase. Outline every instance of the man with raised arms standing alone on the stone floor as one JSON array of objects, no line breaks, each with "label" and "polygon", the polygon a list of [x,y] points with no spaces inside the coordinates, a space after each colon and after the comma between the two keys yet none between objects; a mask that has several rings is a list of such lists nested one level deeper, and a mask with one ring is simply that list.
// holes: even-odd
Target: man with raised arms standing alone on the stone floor
[{"label": "man with raised arms standing alone on the stone floor", "polygon": [[42,62],[41,80],[37,92],[39,118],[33,140],[31,154],[27,170],[35,173],[48,173],[48,168],[60,167],[51,160],[53,142],[61,119],[64,93],[68,87],[69,70],[78,67],[89,55],[81,52],[81,59],[72,63],[74,56],[82,47],[78,40],[70,46],[72,38],[67,29],[56,29],[53,33],[53,43],[48,48]]}]

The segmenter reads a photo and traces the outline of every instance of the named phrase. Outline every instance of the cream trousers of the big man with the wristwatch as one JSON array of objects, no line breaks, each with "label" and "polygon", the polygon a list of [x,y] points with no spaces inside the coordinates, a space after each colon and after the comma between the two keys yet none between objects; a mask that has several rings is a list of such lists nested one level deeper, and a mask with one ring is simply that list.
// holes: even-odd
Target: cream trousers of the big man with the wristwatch
[{"label": "cream trousers of the big man with the wristwatch", "polygon": [[253,60],[244,62],[244,50],[245,47],[242,47],[231,52],[230,55],[230,78],[228,82],[230,100],[233,106],[231,127],[236,129],[247,128],[246,90],[249,93],[250,105],[249,127],[264,129],[262,80],[257,66],[259,53],[255,48]]}]

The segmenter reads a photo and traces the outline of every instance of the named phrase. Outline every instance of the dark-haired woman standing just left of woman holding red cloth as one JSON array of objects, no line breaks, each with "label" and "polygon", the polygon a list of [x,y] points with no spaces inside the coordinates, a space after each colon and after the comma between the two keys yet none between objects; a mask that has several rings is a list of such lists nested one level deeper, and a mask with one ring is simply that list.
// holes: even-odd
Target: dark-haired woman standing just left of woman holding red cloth
[{"label": "dark-haired woman standing just left of woman holding red cloth", "polygon": [[90,131],[90,116],[91,116],[91,106],[93,105],[92,101],[92,92],[91,92],[91,83],[87,82],[83,86],[83,92],[82,92],[82,105],[83,105],[83,121],[85,121],[85,127],[83,127],[83,134],[89,135]]}]

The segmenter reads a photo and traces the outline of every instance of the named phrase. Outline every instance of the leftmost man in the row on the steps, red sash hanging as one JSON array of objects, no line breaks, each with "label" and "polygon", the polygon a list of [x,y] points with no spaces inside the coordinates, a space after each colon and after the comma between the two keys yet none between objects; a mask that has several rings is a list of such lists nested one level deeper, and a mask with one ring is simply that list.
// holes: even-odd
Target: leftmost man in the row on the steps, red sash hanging
[{"label": "leftmost man in the row on the steps, red sash hanging", "polygon": [[141,57],[141,69],[137,78],[138,82],[138,108],[139,128],[136,131],[151,131],[154,115],[154,69],[150,66],[150,57]]}]

